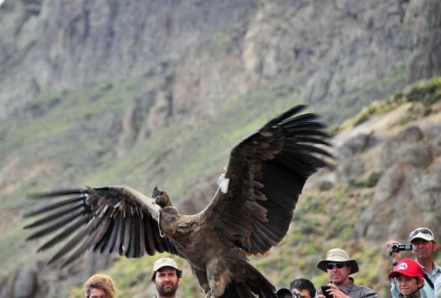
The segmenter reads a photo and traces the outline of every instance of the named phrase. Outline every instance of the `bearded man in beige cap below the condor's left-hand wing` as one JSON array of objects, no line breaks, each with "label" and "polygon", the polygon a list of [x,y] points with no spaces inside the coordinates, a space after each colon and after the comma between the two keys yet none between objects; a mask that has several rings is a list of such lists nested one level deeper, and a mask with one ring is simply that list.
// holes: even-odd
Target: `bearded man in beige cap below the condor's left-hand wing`
[{"label": "bearded man in beige cap below the condor's left-hand wing", "polygon": [[156,295],[152,298],[181,298],[176,296],[182,270],[179,270],[174,259],[163,258],[154,262],[153,274],[150,278],[156,287]]}]

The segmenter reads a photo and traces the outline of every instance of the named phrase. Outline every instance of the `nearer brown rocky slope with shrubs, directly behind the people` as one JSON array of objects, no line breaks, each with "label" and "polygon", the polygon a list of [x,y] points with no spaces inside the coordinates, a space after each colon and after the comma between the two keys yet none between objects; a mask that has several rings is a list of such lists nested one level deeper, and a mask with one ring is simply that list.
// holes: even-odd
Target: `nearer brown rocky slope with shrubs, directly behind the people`
[{"label": "nearer brown rocky slope with shrubs, directly behind the people", "polygon": [[[294,277],[309,277],[318,286],[327,276],[315,268],[316,262],[329,248],[342,247],[358,260],[361,270],[354,275],[356,281],[389,297],[385,277],[391,265],[385,241],[405,242],[416,226],[429,226],[441,237],[437,229],[441,224],[440,123],[439,76],[373,103],[345,122],[332,140],[336,167],[311,177],[287,237],[265,256],[253,257],[253,264],[278,287],[287,286]],[[217,177],[199,179],[180,208],[201,210],[216,189]],[[43,260],[30,261],[3,281],[0,297],[57,297],[60,288],[51,285],[80,285],[99,268],[106,268],[104,272],[116,279],[121,297],[150,297],[154,293],[150,268],[155,259],[89,255],[86,262],[66,270],[48,268]],[[178,263],[185,272],[181,295],[201,297],[188,265],[183,260]],[[70,297],[82,297],[81,286],[64,288],[62,293],[67,292]]]}]

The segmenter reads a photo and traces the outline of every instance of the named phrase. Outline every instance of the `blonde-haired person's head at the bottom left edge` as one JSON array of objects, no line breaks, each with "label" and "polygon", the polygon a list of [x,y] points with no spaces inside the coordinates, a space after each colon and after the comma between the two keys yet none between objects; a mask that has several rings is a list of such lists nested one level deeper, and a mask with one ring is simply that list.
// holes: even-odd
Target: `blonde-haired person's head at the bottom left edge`
[{"label": "blonde-haired person's head at the bottom left edge", "polygon": [[84,298],[116,298],[116,286],[109,275],[92,275],[84,284]]}]

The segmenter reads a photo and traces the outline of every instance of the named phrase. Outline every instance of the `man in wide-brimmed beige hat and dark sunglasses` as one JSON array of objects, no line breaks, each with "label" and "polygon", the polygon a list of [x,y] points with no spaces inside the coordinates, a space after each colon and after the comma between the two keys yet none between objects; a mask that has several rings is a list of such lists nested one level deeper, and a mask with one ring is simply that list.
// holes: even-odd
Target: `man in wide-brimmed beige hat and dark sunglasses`
[{"label": "man in wide-brimmed beige hat and dark sunglasses", "polygon": [[[377,292],[371,288],[360,286],[353,282],[349,275],[358,272],[358,264],[355,259],[350,259],[345,250],[332,248],[328,250],[326,259],[317,263],[317,268],[327,272],[329,289],[327,292],[334,298],[380,298]],[[317,298],[325,298],[322,290],[317,291]]]}]

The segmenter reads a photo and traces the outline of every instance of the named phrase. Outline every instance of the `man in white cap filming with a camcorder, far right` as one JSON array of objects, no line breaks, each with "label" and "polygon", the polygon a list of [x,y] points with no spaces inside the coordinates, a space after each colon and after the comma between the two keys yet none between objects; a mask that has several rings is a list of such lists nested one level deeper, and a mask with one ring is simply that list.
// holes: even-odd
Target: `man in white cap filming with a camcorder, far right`
[{"label": "man in white cap filming with a camcorder, far right", "polygon": [[[391,240],[386,243],[387,251],[392,257],[392,265],[396,264],[402,259],[401,250],[412,250],[415,259],[422,266],[424,270],[424,286],[420,290],[423,298],[435,297],[435,290],[433,284],[435,280],[441,276],[441,268],[434,261],[433,257],[438,245],[433,237],[433,232],[428,228],[416,228],[409,235],[409,244],[399,244],[396,240]],[[391,279],[391,295],[393,298],[398,298],[399,290],[396,282]]]}]

